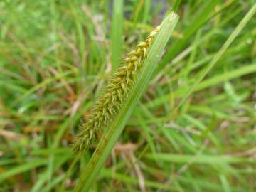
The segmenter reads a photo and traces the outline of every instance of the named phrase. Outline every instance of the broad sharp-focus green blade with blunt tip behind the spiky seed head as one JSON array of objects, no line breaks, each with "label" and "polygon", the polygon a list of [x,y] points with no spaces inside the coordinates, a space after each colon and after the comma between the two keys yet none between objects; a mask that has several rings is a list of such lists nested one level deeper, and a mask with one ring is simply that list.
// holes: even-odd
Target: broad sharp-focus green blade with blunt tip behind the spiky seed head
[{"label": "broad sharp-focus green blade with blunt tip behind the spiky seed head", "polygon": [[100,143],[97,145],[89,164],[87,164],[85,170],[82,171],[82,176],[80,177],[78,185],[75,187],[75,191],[87,191],[92,185],[92,182],[95,181],[95,178],[107,159],[107,156],[110,154],[114,143],[117,142],[119,135],[124,129],[124,125],[136,106],[139,97],[146,89],[151,75],[156,68],[156,64],[159,62],[164,47],[166,46],[172,31],[174,31],[177,22],[178,16],[174,14],[174,12],[171,12],[171,14],[164,20],[159,34],[156,35],[154,43],[151,48],[149,48],[149,55],[146,60],[144,60],[144,67],[142,68],[142,72],[138,75],[138,80],[134,85],[131,94],[127,98],[127,101],[124,103],[119,114],[117,114],[100,139]]}]

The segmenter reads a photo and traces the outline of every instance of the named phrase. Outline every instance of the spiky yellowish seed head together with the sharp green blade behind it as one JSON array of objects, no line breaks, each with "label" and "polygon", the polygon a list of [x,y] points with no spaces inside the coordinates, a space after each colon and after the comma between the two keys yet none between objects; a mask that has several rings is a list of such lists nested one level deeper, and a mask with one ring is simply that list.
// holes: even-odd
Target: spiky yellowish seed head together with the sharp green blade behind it
[{"label": "spiky yellowish seed head together with the sharp green blade behind it", "polygon": [[146,89],[177,21],[178,16],[171,12],[146,40],[139,42],[135,50],[127,54],[124,64],[114,72],[105,91],[95,102],[90,115],[80,127],[73,144],[74,151],[84,151],[102,132],[103,135],[82,171],[75,191],[89,190]]}]

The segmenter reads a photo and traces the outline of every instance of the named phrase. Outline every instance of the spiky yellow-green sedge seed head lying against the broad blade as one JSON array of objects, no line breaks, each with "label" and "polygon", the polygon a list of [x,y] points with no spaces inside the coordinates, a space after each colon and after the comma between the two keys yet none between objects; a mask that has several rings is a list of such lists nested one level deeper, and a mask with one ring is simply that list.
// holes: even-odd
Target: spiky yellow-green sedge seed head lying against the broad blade
[{"label": "spiky yellow-green sedge seed head lying against the broad blade", "polygon": [[161,26],[157,26],[146,40],[137,44],[135,50],[127,53],[123,65],[115,70],[107,87],[97,98],[90,114],[85,117],[80,126],[73,144],[74,151],[83,151],[83,149],[88,148],[102,133],[104,127],[107,127],[107,124],[112,121],[114,115],[118,114],[136,81],[138,70],[143,67],[142,63],[147,56],[149,46],[151,46],[160,28]]}]

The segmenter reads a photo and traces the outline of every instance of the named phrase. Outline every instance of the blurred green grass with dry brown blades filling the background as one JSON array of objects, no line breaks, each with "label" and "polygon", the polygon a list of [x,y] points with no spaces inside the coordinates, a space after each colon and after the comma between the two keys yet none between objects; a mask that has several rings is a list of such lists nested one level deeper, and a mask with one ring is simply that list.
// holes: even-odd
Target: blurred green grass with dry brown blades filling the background
[{"label": "blurred green grass with dry brown blades filling the background", "polygon": [[255,16],[231,35],[253,4],[1,1],[0,191],[73,190],[96,146],[70,150],[80,119],[171,8],[164,58],[92,191],[255,191]]}]

